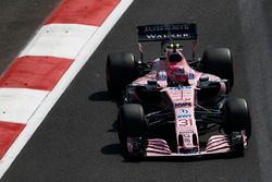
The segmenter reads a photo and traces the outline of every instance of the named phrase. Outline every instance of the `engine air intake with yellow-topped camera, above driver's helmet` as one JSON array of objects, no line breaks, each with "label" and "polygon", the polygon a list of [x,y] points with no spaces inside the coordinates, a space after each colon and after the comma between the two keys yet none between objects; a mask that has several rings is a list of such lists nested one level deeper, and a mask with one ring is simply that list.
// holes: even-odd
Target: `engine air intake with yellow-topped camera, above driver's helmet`
[{"label": "engine air intake with yellow-topped camera, above driver's helmet", "polygon": [[176,63],[183,60],[182,46],[180,44],[170,44],[165,47],[165,57],[170,63]]}]

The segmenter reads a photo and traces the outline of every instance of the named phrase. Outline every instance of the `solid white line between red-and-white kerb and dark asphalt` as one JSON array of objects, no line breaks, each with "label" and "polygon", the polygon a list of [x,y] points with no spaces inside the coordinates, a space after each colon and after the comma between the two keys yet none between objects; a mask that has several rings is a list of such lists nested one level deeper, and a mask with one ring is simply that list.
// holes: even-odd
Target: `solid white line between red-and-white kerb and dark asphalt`
[{"label": "solid white line between red-and-white kerb and dark asphalt", "polygon": [[75,62],[71,65],[71,68],[66,71],[63,77],[60,80],[58,85],[50,92],[50,94],[46,97],[40,107],[36,110],[33,117],[27,122],[26,128],[13,143],[13,145],[9,148],[4,157],[0,160],[0,178],[9,169],[13,160],[20,154],[22,148],[25,146],[27,141],[32,137],[34,132],[37,130],[39,124],[44,121],[48,112],[51,110],[53,105],[60,98],[60,96],[64,93],[66,87],[83,68],[83,65],[88,61],[89,57],[95,52],[97,47],[101,44],[107,34],[111,31],[118,20],[122,16],[122,14],[127,10],[127,8],[132,4],[133,0],[122,0],[119,5],[114,9],[114,11],[110,14],[110,16],[104,21],[104,23],[97,29],[95,35],[87,41],[84,46]]}]

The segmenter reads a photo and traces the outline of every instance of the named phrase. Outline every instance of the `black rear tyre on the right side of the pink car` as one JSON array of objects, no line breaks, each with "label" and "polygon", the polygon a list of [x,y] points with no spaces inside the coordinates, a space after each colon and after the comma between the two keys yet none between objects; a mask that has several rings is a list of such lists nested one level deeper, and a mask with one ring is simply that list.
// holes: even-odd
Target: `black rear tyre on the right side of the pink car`
[{"label": "black rear tyre on the right side of the pink car", "polygon": [[233,58],[228,48],[210,48],[201,59],[202,71],[228,81],[230,89],[234,85]]}]

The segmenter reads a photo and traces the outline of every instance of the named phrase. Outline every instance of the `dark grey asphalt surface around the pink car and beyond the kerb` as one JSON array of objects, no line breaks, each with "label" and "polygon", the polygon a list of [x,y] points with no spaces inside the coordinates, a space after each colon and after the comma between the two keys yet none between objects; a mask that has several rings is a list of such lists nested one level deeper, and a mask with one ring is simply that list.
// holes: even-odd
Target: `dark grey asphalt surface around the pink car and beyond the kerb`
[{"label": "dark grey asphalt surface around the pink car and beyond the kerb", "polygon": [[[1,71],[55,4],[55,0],[1,0]],[[0,181],[272,181],[271,9],[270,0],[136,0]],[[118,107],[106,92],[106,57],[112,51],[137,54],[136,25],[176,22],[198,24],[198,56],[207,47],[231,48],[235,61],[232,97],[246,98],[252,118],[245,157],[123,161],[114,130]],[[154,58],[152,52],[153,48],[148,57]]]}]

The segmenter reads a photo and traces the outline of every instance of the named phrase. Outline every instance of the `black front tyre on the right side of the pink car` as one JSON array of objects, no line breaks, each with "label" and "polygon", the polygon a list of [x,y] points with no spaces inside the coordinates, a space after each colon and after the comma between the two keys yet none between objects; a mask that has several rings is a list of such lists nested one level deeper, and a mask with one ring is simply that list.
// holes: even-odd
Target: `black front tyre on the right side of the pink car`
[{"label": "black front tyre on the right side of the pink car", "polygon": [[243,98],[227,99],[224,105],[224,132],[231,134],[245,130],[247,138],[249,139],[251,136],[251,120],[246,100]]}]

